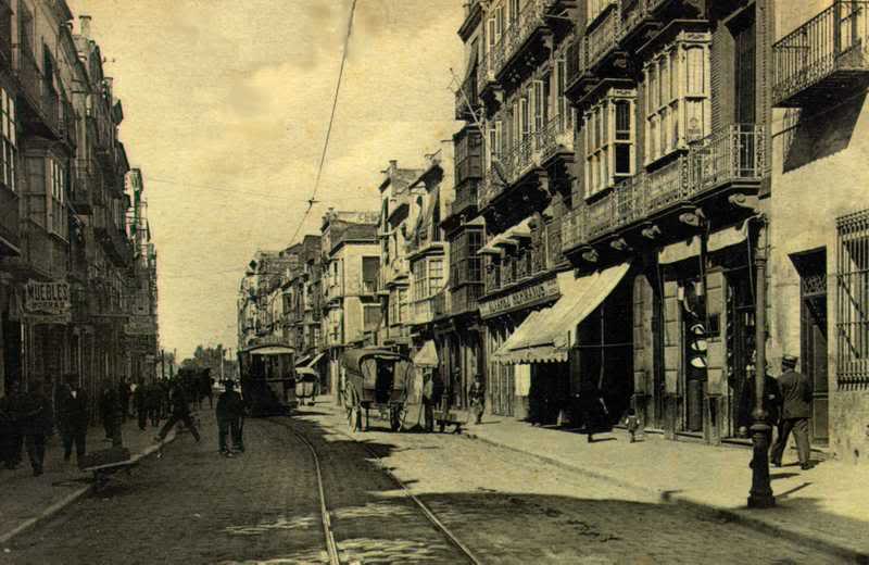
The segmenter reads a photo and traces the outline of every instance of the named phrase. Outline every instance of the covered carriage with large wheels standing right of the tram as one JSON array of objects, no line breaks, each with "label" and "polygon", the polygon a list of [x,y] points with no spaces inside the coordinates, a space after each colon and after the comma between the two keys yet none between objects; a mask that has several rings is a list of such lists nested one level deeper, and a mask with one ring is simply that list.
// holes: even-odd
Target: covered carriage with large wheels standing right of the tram
[{"label": "covered carriage with large wheels standing right of the tram", "polygon": [[388,419],[392,431],[401,429],[413,374],[413,362],[400,353],[375,348],[345,351],[341,356],[341,393],[350,430],[367,428],[373,409]]}]

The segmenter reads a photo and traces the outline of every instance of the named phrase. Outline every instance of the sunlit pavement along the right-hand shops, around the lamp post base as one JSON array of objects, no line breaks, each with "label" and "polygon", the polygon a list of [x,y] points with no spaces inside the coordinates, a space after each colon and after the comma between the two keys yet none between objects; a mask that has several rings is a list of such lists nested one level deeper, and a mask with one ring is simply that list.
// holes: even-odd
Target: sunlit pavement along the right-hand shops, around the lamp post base
[{"label": "sunlit pavement along the right-hand shops, around the lamp post base", "polygon": [[[785,452],[784,467],[770,468],[778,506],[748,510],[752,451],[665,440],[645,434],[630,443],[615,430],[585,436],[532,427],[514,418],[487,415],[465,435],[624,487],[658,494],[662,501],[715,511],[730,519],[797,539],[859,563],[869,563],[869,468],[835,461],[801,470],[796,452]],[[793,443],[793,440],[791,440]]]}]

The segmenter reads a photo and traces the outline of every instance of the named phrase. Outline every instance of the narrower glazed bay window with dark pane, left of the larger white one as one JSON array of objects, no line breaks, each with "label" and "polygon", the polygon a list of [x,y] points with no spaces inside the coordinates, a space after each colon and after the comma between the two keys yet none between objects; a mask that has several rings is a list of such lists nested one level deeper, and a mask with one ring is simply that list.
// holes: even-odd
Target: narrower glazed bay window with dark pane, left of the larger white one
[{"label": "narrower glazed bay window with dark pane, left of the larger white one", "polygon": [[634,90],[610,89],[585,112],[587,197],[634,174],[635,97]]}]

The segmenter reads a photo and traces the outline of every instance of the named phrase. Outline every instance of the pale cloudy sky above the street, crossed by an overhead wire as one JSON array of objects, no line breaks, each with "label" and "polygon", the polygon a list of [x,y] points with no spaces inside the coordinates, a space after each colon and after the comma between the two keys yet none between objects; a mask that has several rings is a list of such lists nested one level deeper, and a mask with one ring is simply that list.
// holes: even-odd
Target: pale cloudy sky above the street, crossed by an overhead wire
[{"label": "pale cloudy sky above the street, crossed by an overhead wire", "polygon": [[[161,346],[235,348],[245,265],[289,246],[307,206],[351,0],[67,1],[92,17],[144,177]],[[357,0],[320,203],[299,237],[329,206],[377,210],[389,160],[419,166],[458,128],[462,3]]]}]

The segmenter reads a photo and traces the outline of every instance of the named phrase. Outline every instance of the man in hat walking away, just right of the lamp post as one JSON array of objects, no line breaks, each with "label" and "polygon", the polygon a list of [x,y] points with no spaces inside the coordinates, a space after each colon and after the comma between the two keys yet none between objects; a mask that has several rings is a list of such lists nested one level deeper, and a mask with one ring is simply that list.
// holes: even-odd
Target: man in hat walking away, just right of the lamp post
[{"label": "man in hat walking away, just right of the lamp post", "polygon": [[793,431],[796,451],[799,454],[799,466],[807,469],[810,467],[808,418],[811,416],[811,382],[808,377],[794,371],[796,361],[797,357],[794,355],[781,357],[782,373],[779,377],[779,389],[783,403],[779,437],[772,448],[772,461],[781,463],[784,448],[788,447],[788,438]]}]

